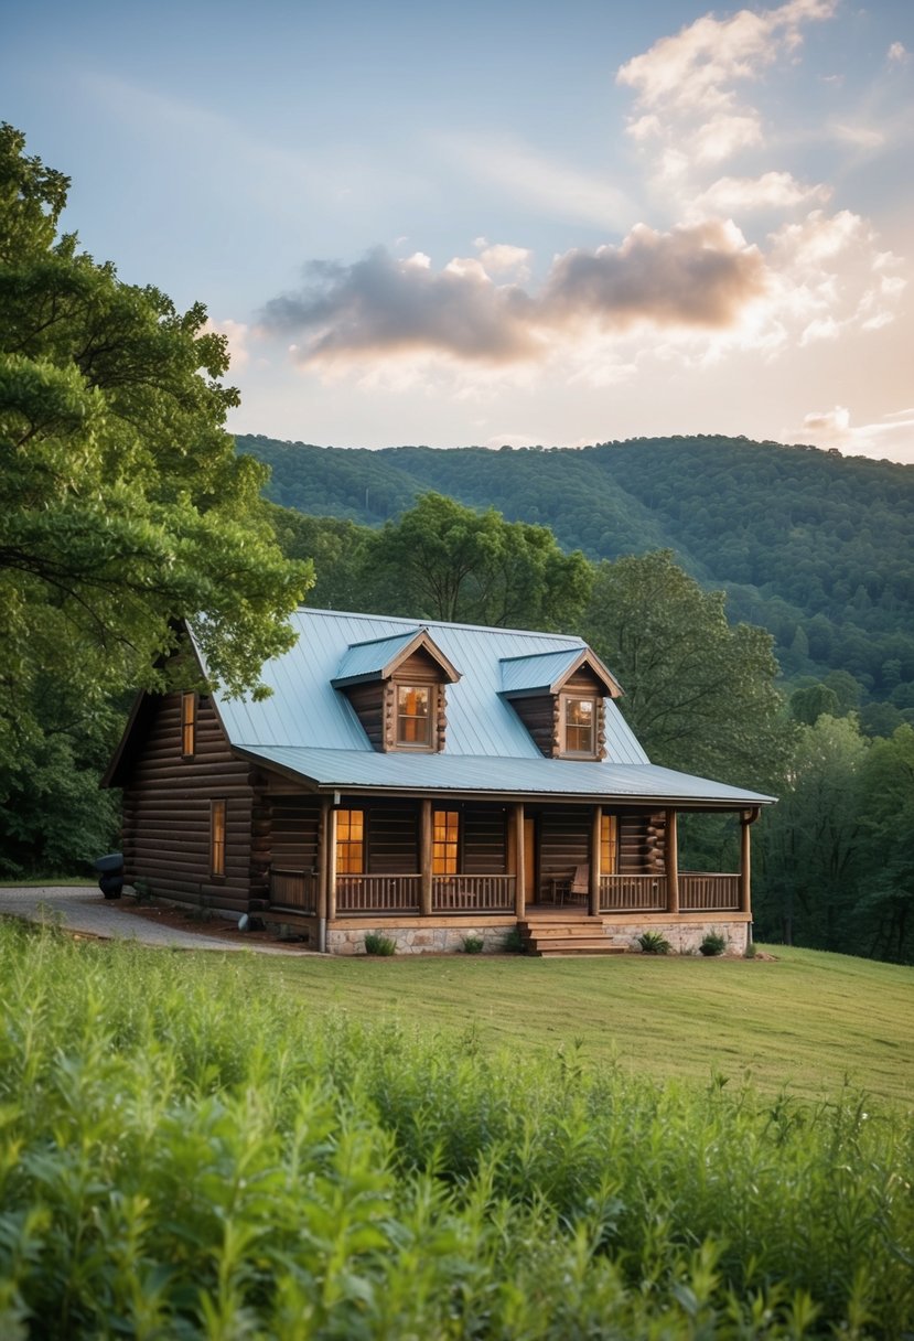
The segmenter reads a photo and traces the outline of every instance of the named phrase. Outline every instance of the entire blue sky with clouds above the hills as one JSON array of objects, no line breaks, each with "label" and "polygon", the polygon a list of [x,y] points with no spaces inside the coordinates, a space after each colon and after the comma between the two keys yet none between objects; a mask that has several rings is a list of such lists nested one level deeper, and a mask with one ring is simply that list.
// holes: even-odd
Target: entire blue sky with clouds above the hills
[{"label": "entire blue sky with clouds above the hills", "polygon": [[914,463],[914,0],[7,0],[63,224],[239,433]]}]

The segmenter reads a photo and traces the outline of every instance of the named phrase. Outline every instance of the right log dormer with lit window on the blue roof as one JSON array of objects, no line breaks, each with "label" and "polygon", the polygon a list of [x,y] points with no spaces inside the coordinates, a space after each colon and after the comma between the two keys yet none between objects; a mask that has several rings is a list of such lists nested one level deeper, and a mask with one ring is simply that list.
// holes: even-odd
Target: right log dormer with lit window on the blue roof
[{"label": "right log dormer with lit window on the blue roof", "polygon": [[507,699],[547,759],[602,759],[606,750],[604,699],[622,689],[590,648],[505,657],[501,697]]}]

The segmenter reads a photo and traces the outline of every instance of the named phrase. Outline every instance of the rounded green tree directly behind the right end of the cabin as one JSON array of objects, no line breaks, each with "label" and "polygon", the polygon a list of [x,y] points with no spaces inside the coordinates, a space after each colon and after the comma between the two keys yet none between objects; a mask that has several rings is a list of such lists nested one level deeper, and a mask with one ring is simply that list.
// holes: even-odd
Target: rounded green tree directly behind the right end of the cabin
[{"label": "rounded green tree directly behind the right end of the cabin", "polygon": [[787,750],[772,637],[728,624],[669,550],[598,569],[588,641],[619,677],[622,711],[654,763],[771,786]]}]

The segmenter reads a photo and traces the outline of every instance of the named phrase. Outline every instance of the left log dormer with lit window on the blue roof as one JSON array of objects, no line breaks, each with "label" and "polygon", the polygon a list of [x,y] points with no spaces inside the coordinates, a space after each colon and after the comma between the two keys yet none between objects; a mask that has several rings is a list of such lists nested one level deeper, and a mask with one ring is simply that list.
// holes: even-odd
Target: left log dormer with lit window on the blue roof
[{"label": "left log dormer with lit window on the blue roof", "polygon": [[382,754],[436,754],[445,747],[446,685],[454,669],[428,629],[411,629],[346,649],[331,681],[352,704]]}]

